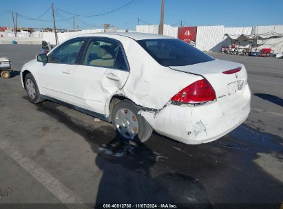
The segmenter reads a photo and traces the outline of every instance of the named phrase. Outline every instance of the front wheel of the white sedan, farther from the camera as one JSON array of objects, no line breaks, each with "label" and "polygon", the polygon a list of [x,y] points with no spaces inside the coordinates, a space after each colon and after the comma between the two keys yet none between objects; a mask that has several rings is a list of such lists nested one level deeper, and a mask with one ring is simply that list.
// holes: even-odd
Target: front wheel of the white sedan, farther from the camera
[{"label": "front wheel of the white sedan, farther from the camera", "polygon": [[36,104],[43,101],[41,94],[39,93],[39,87],[32,74],[27,74],[25,76],[25,91],[27,91],[28,100],[30,100],[30,102]]}]

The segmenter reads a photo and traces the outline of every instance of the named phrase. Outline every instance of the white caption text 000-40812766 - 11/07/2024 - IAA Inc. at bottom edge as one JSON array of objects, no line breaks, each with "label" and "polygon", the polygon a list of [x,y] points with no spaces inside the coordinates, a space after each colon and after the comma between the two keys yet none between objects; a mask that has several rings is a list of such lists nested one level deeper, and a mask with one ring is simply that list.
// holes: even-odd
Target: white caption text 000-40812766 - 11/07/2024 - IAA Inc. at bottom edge
[{"label": "white caption text 000-40812766 - 11/07/2024 - IAA Inc. at bottom edge", "polygon": [[178,208],[174,204],[103,204],[103,208]]}]

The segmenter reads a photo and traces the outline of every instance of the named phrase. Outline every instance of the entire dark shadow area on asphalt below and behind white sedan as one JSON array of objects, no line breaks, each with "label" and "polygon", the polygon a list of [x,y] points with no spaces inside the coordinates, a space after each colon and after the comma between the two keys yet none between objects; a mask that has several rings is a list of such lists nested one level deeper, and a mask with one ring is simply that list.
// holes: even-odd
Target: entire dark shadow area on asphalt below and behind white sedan
[{"label": "entire dark shadow area on asphalt below and behind white sedan", "polygon": [[277,208],[282,201],[280,181],[254,162],[258,153],[282,152],[282,139],[268,133],[240,126],[208,144],[180,144],[155,134],[145,144],[136,144],[121,141],[111,126],[84,124],[58,109],[59,104],[42,102],[36,107],[81,135],[97,153],[96,166],[103,175],[94,208],[102,208],[102,203],[252,208],[211,204],[211,199],[217,203],[273,203],[254,208]]}]

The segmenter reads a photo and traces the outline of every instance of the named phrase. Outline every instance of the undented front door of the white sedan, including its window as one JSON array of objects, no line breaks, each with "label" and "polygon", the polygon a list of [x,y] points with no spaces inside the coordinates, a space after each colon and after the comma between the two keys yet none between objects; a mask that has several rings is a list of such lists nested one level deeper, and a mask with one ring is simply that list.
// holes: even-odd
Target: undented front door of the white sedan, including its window
[{"label": "undented front door of the white sedan, including its window", "polygon": [[42,94],[72,102],[72,74],[84,41],[85,38],[71,39],[48,54],[48,63],[43,63],[38,71]]}]

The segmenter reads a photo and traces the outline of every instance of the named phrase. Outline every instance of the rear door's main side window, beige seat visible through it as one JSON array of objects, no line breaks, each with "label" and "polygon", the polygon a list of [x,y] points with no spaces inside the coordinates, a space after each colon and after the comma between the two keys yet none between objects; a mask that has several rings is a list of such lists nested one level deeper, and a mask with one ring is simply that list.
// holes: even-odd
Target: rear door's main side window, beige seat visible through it
[{"label": "rear door's main side window, beige seat visible through it", "polygon": [[97,67],[114,67],[118,44],[112,41],[90,41],[87,47],[83,65]]}]

